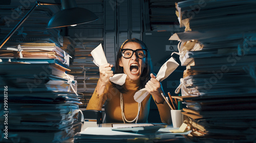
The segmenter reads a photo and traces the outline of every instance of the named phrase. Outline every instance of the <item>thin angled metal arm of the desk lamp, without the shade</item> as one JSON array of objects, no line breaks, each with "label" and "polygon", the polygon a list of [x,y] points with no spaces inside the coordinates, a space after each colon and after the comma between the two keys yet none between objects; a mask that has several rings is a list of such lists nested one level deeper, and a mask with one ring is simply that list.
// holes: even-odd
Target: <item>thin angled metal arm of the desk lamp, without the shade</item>
[{"label": "thin angled metal arm of the desk lamp, without the shade", "polygon": [[3,47],[3,45],[10,39],[10,37],[18,30],[20,25],[23,24],[25,20],[30,16],[30,14],[35,10],[35,8],[39,5],[60,5],[60,4],[53,4],[53,3],[41,3],[41,2],[35,2],[36,4],[29,10],[29,12],[18,22],[18,24],[12,29],[12,31],[5,37],[5,39],[2,41],[0,45],[0,49]]}]

